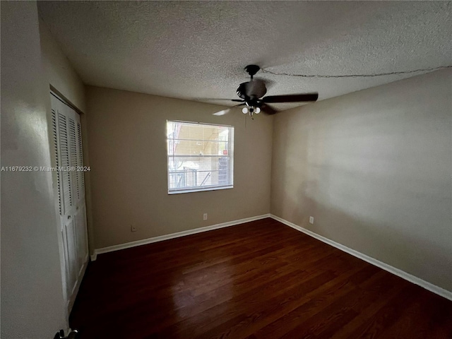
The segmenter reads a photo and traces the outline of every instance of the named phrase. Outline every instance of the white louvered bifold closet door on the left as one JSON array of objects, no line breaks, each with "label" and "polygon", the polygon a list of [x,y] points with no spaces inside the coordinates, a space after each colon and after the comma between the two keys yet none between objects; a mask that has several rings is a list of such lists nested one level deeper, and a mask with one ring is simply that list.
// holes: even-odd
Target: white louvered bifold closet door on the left
[{"label": "white louvered bifold closet door on the left", "polygon": [[[52,131],[57,171],[58,206],[64,261],[64,285],[69,311],[75,292],[88,263],[85,181],[80,116],[71,107],[51,95]],[[68,170],[75,169],[75,170]]]}]

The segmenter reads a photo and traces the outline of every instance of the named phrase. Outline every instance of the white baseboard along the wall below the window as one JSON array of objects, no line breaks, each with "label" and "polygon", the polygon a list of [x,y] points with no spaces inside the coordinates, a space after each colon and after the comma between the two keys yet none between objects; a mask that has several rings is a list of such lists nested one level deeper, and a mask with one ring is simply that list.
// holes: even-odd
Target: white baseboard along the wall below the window
[{"label": "white baseboard along the wall below the window", "polygon": [[119,244],[114,246],[103,247],[102,249],[95,249],[94,254],[91,256],[91,261],[95,261],[97,259],[97,254],[108,253],[112,251],[119,251],[120,249],[129,249],[131,247],[152,244],[153,242],[162,242],[163,240],[174,239],[179,237],[185,237],[186,235],[207,232],[211,230],[218,230],[218,228],[230,227],[234,225],[243,224],[244,222],[250,222],[254,220],[260,220],[264,218],[270,218],[270,214],[256,215],[255,217],[244,218],[239,220],[232,220],[228,222],[222,222],[221,224],[210,225],[206,227],[195,228],[194,230],[186,230],[177,233],[160,235],[158,237],[152,237],[143,240],[137,240],[136,242],[126,242],[126,244]]}]

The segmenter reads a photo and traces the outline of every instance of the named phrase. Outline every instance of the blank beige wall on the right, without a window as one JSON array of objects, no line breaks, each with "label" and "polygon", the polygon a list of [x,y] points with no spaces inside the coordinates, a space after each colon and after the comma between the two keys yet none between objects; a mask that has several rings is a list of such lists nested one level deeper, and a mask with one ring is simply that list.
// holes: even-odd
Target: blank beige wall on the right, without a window
[{"label": "blank beige wall on the right, without a window", "polygon": [[451,70],[278,114],[271,213],[452,291],[451,120]]}]

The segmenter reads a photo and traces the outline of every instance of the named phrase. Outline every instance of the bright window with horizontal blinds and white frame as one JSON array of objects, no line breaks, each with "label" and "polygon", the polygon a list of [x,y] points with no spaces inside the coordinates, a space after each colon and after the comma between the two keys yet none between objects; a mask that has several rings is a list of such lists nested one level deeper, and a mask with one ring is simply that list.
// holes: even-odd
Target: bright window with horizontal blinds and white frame
[{"label": "bright window with horizontal blinds and white frame", "polygon": [[167,121],[168,194],[232,189],[234,127]]}]

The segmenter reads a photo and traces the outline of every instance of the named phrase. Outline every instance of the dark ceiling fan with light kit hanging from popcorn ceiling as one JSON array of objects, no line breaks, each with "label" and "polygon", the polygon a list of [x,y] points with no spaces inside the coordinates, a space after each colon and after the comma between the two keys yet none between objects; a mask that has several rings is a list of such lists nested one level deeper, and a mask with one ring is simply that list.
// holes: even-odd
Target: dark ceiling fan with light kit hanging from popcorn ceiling
[{"label": "dark ceiling fan with light kit hanging from popcorn ceiling", "polygon": [[[277,109],[268,105],[269,103],[278,102],[310,102],[316,101],[319,93],[304,93],[304,94],[290,94],[290,95],[269,95],[264,97],[267,93],[266,84],[260,79],[253,79],[253,76],[261,69],[257,65],[248,65],[245,67],[246,73],[251,76],[251,81],[241,83],[237,88],[237,95],[240,99],[232,99],[231,101],[240,102],[234,107],[244,106],[242,112],[249,114],[258,114],[261,111],[266,114],[275,114]],[[224,115],[234,109],[234,107],[223,109],[220,112],[213,113],[213,115]]]}]

